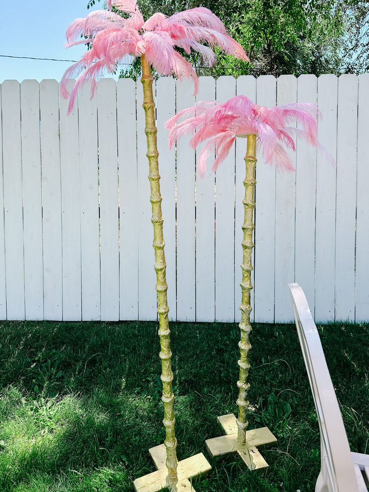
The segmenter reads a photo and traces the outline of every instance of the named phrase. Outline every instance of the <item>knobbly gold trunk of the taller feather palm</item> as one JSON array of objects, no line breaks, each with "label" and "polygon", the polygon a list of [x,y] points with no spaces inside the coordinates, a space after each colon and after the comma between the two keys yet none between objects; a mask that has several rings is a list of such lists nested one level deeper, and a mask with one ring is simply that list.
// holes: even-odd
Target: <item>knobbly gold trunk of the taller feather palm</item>
[{"label": "knobbly gold trunk of the taller feather palm", "polygon": [[160,359],[161,359],[161,381],[163,385],[163,394],[161,400],[164,405],[165,427],[165,447],[166,447],[166,466],[168,469],[168,486],[171,490],[176,490],[177,477],[177,441],[174,433],[174,395],[172,391],[173,373],[171,370],[171,352],[170,352],[170,331],[168,322],[168,303],[166,291],[168,285],[165,278],[165,255],[164,255],[164,238],[163,238],[163,218],[161,214],[161,194],[160,194],[160,176],[157,144],[156,144],[156,123],[155,123],[155,103],[152,93],[152,73],[151,67],[141,56],[142,66],[142,86],[143,86],[143,109],[145,110],[145,133],[147,137],[147,158],[149,163],[150,181],[150,202],[152,208],[151,222],[154,227],[153,248],[155,251],[155,272],[156,272],[156,293],[157,293],[157,312],[159,315],[160,338]]}]

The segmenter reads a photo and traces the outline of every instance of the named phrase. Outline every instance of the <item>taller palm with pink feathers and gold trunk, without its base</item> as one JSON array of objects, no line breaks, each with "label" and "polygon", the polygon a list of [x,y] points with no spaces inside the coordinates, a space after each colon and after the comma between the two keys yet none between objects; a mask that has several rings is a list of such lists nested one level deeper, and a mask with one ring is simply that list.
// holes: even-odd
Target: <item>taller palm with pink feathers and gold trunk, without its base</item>
[{"label": "taller palm with pink feathers and gold trunk, without its base", "polygon": [[[242,47],[227,35],[221,20],[208,9],[199,7],[179,12],[171,17],[154,14],[146,22],[139,11],[136,0],[109,0],[108,8],[89,14],[85,19],[76,19],[68,28],[67,46],[89,43],[90,49],[64,74],[61,92],[68,97],[66,83],[77,78],[70,95],[69,110],[72,109],[78,89],[87,79],[92,80],[92,96],[97,80],[106,72],[114,72],[117,63],[127,56],[140,57],[142,67],[143,109],[145,111],[145,133],[147,137],[147,158],[149,162],[150,202],[154,229],[154,252],[157,291],[157,312],[159,315],[161,381],[163,385],[164,426],[166,466],[168,485],[174,490],[177,483],[176,439],[174,433],[174,412],[172,392],[173,373],[171,370],[170,331],[168,324],[167,283],[165,278],[165,255],[161,194],[159,186],[158,151],[156,145],[155,104],[152,92],[151,68],[161,75],[172,74],[178,79],[192,77],[195,93],[198,78],[191,64],[176,48],[190,54],[202,55],[204,63],[211,66],[216,58],[214,48],[237,58],[248,60]],[[117,13],[118,12],[118,13]],[[123,14],[122,17],[120,14]],[[82,39],[81,39],[82,37]]]}]

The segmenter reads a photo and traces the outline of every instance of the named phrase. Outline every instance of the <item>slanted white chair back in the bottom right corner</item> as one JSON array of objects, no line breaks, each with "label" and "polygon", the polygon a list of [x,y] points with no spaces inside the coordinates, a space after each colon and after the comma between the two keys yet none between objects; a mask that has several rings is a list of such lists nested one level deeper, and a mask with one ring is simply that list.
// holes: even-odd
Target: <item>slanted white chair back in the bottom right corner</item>
[{"label": "slanted white chair back in the bottom right corner", "polygon": [[322,467],[334,492],[358,492],[341,412],[316,325],[302,288],[288,284],[302,355],[318,416]]}]

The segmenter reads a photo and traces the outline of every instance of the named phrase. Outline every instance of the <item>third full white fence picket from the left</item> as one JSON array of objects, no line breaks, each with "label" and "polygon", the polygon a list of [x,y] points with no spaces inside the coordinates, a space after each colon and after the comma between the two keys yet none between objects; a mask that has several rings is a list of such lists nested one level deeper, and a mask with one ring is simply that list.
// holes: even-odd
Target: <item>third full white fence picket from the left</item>
[{"label": "third full white fence picket from the left", "polygon": [[44,317],[63,319],[62,199],[59,84],[40,83],[40,131],[44,240]]}]

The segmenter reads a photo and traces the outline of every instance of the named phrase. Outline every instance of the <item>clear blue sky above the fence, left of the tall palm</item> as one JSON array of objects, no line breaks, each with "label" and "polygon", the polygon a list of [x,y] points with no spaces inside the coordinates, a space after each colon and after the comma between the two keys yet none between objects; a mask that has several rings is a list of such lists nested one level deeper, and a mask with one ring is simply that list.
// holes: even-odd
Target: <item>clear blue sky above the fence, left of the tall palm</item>
[{"label": "clear blue sky above the fence, left of the tall palm", "polygon": [[[88,0],[15,3],[0,0],[0,55],[77,60],[84,46],[64,47],[65,31],[77,17],[86,17]],[[94,10],[103,3],[96,1]],[[0,57],[0,82],[7,79],[60,80],[71,62]]]}]

